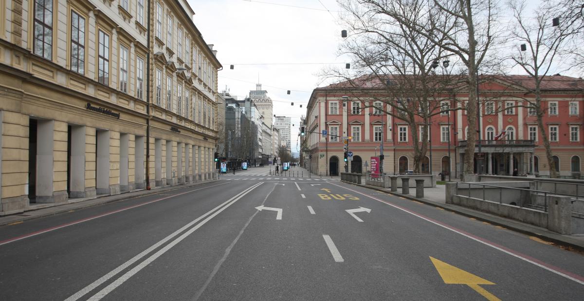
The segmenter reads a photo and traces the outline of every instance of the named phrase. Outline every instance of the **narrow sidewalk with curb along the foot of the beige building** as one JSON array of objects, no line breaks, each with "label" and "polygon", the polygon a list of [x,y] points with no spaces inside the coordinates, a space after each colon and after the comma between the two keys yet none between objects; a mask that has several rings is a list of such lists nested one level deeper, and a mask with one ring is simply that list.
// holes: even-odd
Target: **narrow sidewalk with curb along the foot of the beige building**
[{"label": "narrow sidewalk with curb along the foot of the beige building", "polygon": [[[95,199],[80,201],[78,203],[64,203],[64,204],[60,204],[58,206],[24,211],[24,212],[18,213],[18,214],[39,213],[40,210],[47,210],[47,212],[45,212],[45,213],[33,214],[33,215],[28,216],[28,217],[21,217],[21,218],[12,218],[11,219],[11,217],[16,217],[16,216],[18,216],[18,214],[5,215],[4,217],[0,217],[0,226],[30,221],[33,219],[48,217],[51,215],[57,215],[57,214],[61,214],[61,213],[66,213],[70,210],[79,210],[79,209],[97,207],[97,206],[100,206],[103,204],[114,203],[116,201],[134,199],[135,197],[148,196],[151,194],[167,192],[167,191],[177,190],[177,189],[183,189],[186,187],[198,186],[198,185],[213,183],[213,182],[217,182],[217,181],[218,181],[218,179],[213,179],[213,180],[206,180],[206,181],[201,181],[201,182],[196,182],[196,183],[190,183],[187,185],[179,184],[179,185],[167,186],[167,187],[162,187],[162,188],[154,189],[154,190],[140,190],[137,192],[126,192],[126,193],[116,194],[114,196],[109,195],[109,196],[103,196],[103,197],[96,197]],[[67,205],[69,205],[69,206],[67,206]],[[3,219],[5,219],[5,218],[10,219],[10,220],[4,221]]]}]

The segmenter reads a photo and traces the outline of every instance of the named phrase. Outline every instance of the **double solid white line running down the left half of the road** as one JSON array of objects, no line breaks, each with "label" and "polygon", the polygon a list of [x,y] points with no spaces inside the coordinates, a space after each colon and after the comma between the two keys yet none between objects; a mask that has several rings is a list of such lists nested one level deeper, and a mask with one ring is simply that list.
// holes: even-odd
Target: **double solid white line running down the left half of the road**
[{"label": "double solid white line running down the left half of the road", "polygon": [[[198,217],[197,219],[194,219],[194,221],[189,222],[189,224],[186,224],[182,228],[180,228],[177,231],[173,232],[171,235],[166,236],[164,239],[162,239],[159,242],[155,243],[154,245],[152,245],[148,249],[144,250],[142,253],[134,256],[130,260],[128,260],[125,263],[121,264],[119,267],[115,268],[113,271],[107,273],[106,275],[103,275],[103,277],[97,279],[92,284],[90,284],[88,286],[85,286],[85,288],[81,289],[81,291],[79,291],[79,292],[75,293],[74,295],[70,296],[69,298],[65,299],[65,301],[74,301],[74,300],[78,300],[82,296],[85,296],[87,293],[93,291],[93,289],[95,289],[98,286],[102,285],[106,281],[109,281],[109,279],[112,279],[114,276],[116,276],[117,274],[119,274],[121,271],[126,270],[126,268],[128,268],[130,265],[132,265],[132,264],[136,263],[137,261],[141,260],[143,257],[147,256],[148,254],[150,254],[152,251],[154,251],[158,247],[164,245],[169,240],[175,238],[176,236],[180,235],[180,233],[182,233],[186,229],[189,229],[190,228],[188,231],[186,231],[182,235],[178,236],[178,238],[172,240],[172,242],[168,243],[162,249],[158,250],[158,252],[152,254],[150,257],[146,258],[144,261],[142,261],[141,263],[139,263],[138,265],[136,265],[130,271],[127,271],[125,274],[121,275],[119,278],[117,278],[111,284],[107,285],[101,291],[97,292],[95,295],[93,295],[88,300],[100,300],[100,299],[102,299],[108,293],[112,292],[118,286],[120,286],[121,284],[123,284],[124,282],[126,282],[127,279],[130,279],[130,277],[132,277],[137,272],[139,272],[140,270],[142,270],[142,268],[144,268],[148,264],[152,263],[152,261],[156,260],[162,254],[166,253],[166,251],[170,250],[173,246],[175,246],[176,244],[178,244],[179,242],[181,242],[183,239],[187,238],[187,236],[191,235],[194,231],[197,231],[197,229],[201,228],[201,226],[203,226],[204,224],[206,224],[206,222],[210,221],[217,214],[220,214],[227,207],[231,206],[233,203],[235,203],[236,201],[238,201],[239,199],[241,199],[242,197],[244,197],[245,194],[248,194],[249,192],[251,192],[256,187],[262,185],[262,183],[263,182],[260,182],[260,183],[257,183],[256,185],[253,185],[253,186],[249,187],[248,189],[244,190],[243,192],[240,192],[237,195],[235,195],[234,197],[232,197],[231,199],[225,201],[225,203],[220,204],[219,206],[217,206],[217,207],[211,209],[210,211],[208,211],[206,214],[203,214],[200,217]],[[203,221],[201,221],[201,219],[203,219]],[[199,222],[199,221],[201,221],[201,222]],[[197,222],[199,224],[197,224]],[[193,225],[195,225],[195,226],[193,226]]]}]

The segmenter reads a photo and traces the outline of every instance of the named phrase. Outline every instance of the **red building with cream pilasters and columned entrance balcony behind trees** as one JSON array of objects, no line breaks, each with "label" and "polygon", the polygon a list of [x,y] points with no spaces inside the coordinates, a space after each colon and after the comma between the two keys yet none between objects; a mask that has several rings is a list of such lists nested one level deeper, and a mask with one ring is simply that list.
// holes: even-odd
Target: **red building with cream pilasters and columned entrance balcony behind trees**
[{"label": "red building with cream pilasters and columned entrance balcony behind trees", "polygon": [[[323,175],[344,171],[342,137],[346,136],[352,137],[348,148],[354,154],[353,160],[347,162],[350,172],[369,169],[370,157],[379,155],[382,146],[385,173],[413,170],[409,123],[376,108],[391,112],[392,106],[387,101],[367,97],[388,93],[384,85],[379,80],[353,82],[358,82],[358,86],[340,83],[312,91],[305,119],[308,134],[301,141],[301,161],[305,167]],[[529,108],[530,102],[535,102],[534,88],[534,80],[529,76],[483,77],[478,87],[481,116],[477,144],[480,147],[475,147],[475,172],[507,175],[517,169],[519,175],[550,174],[536,114]],[[558,174],[565,178],[579,177],[584,159],[584,80],[550,76],[541,83],[541,93],[543,121]],[[422,160],[421,172],[447,174],[450,164],[451,175],[460,176],[468,129],[464,110],[468,88],[451,87],[436,98],[440,105],[460,109],[440,113],[438,108],[439,114],[432,116],[426,125],[430,147]],[[423,130],[423,124],[420,118],[418,133]],[[328,130],[326,137],[318,134],[324,129]]]}]

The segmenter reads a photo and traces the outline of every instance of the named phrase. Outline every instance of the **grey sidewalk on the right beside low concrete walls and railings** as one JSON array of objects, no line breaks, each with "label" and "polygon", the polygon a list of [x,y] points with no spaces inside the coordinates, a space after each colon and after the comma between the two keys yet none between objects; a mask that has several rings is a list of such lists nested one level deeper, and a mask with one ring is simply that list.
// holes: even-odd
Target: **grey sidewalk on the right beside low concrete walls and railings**
[{"label": "grey sidewalk on the right beside low concrete walls and railings", "polygon": [[380,192],[385,192],[388,194],[392,194],[394,196],[400,196],[405,197],[406,199],[419,201],[420,203],[443,208],[444,210],[452,211],[454,213],[461,214],[467,217],[473,217],[479,219],[480,221],[489,222],[490,224],[493,225],[503,226],[513,231],[521,232],[530,236],[536,236],[537,238],[541,238],[543,240],[556,243],[557,245],[572,247],[574,249],[584,251],[584,235],[562,235],[555,232],[551,232],[550,230],[545,228],[524,224],[523,222],[519,221],[514,221],[513,219],[503,218],[497,215],[492,215],[481,211],[456,206],[453,204],[446,204],[446,185],[436,185],[436,187],[431,188],[426,187],[424,189],[423,198],[415,197],[416,187],[409,188],[410,194],[402,194],[401,188],[398,188],[398,192],[391,192],[391,189],[385,189],[376,186],[369,186],[364,184],[361,184],[359,186],[378,190]]}]

